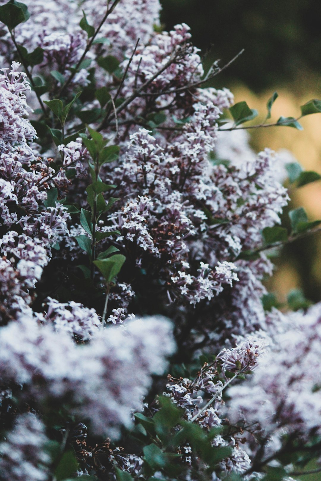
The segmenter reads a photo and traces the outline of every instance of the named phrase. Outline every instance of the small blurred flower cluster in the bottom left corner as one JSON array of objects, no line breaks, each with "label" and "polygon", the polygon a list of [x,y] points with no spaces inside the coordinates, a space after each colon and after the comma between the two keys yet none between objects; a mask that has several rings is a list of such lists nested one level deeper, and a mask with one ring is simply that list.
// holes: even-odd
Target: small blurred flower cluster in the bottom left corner
[{"label": "small blurred flower cluster in the bottom left corner", "polygon": [[48,480],[46,465],[50,456],[45,452],[48,441],[44,425],[34,414],[19,415],[6,441],[0,443],[1,480]]}]

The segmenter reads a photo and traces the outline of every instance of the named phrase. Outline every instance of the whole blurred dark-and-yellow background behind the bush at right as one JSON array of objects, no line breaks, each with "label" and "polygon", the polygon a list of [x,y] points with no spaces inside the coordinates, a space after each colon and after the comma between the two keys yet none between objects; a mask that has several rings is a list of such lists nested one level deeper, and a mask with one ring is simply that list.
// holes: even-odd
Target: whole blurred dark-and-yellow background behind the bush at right
[{"label": "whole blurred dark-and-yellow background behind the bush at right", "polygon": [[[271,121],[298,116],[300,105],[321,99],[320,0],[161,0],[162,23],[168,30],[178,23],[192,29],[193,43],[206,54],[205,65],[221,59],[224,65],[243,48],[244,53],[215,77],[212,87],[228,87],[235,101],[266,114],[266,102],[276,90]],[[321,114],[291,127],[250,130],[256,151],[265,147],[288,149],[306,170],[321,174]],[[288,210],[304,206],[309,220],[321,219],[321,182],[290,192]],[[288,212],[287,210],[287,212]],[[287,225],[287,212],[282,224]],[[267,281],[278,301],[301,289],[308,300],[321,300],[321,234],[295,241],[275,259],[273,278]],[[319,473],[320,474],[320,473]],[[308,477],[305,477],[308,480]],[[309,478],[311,480],[311,478]]]}]

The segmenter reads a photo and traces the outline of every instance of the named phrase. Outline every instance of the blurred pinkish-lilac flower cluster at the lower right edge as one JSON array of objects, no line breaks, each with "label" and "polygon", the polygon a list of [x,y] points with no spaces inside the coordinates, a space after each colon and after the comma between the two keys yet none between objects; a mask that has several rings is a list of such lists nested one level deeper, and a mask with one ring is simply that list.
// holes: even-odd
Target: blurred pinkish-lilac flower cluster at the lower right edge
[{"label": "blurred pinkish-lilac flower cluster at the lower right edge", "polygon": [[234,419],[239,412],[272,437],[321,432],[320,309],[316,304],[285,317],[275,311],[269,350],[253,379],[229,390]]}]

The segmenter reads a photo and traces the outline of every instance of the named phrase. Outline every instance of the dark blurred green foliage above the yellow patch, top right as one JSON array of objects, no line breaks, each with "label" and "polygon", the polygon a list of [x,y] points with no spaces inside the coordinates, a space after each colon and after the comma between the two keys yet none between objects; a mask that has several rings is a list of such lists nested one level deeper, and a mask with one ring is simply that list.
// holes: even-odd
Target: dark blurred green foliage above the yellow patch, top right
[{"label": "dark blurred green foliage above the yellow patch, top right", "polygon": [[321,73],[320,0],[161,0],[167,29],[186,23],[193,43],[210,60],[241,58],[217,77],[216,87],[241,81],[254,91]]}]

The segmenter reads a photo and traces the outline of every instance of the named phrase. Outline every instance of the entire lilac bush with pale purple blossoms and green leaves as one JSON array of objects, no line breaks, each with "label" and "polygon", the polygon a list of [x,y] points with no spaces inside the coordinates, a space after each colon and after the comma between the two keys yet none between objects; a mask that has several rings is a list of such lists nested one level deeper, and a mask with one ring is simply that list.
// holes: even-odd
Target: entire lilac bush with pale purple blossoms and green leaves
[{"label": "entire lilac bush with pale purple blossoms and green leaves", "polygon": [[[250,148],[257,111],[204,87],[229,64],[159,12],[0,1],[3,480],[281,481],[320,456],[320,305],[263,283],[319,228],[280,225],[287,187],[320,176]],[[321,112],[269,124],[276,98],[251,127]]]}]

